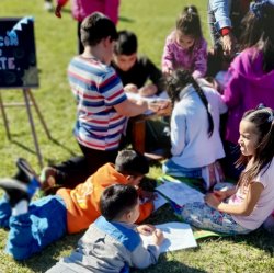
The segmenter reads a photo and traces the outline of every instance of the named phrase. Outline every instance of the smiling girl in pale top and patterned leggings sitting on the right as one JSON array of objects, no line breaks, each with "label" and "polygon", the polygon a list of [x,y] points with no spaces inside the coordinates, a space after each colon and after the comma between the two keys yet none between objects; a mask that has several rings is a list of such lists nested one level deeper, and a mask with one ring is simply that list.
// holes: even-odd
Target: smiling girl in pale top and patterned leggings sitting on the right
[{"label": "smiling girl in pale top and patterned leggings sitting on the right", "polygon": [[235,189],[215,191],[205,203],[186,204],[184,220],[193,226],[226,234],[248,234],[259,228],[274,207],[274,111],[244,113],[238,144],[246,166]]}]

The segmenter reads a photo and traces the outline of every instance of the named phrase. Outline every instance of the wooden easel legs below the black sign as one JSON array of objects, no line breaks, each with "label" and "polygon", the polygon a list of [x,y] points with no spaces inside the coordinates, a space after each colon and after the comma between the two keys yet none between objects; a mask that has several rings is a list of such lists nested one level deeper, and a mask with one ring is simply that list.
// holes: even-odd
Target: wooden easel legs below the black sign
[{"label": "wooden easel legs below the black sign", "polygon": [[24,95],[24,102],[15,102],[15,103],[3,103],[3,100],[2,100],[2,95],[1,95],[1,90],[0,90],[0,107],[1,107],[1,113],[2,113],[2,116],[3,116],[3,123],[4,123],[4,127],[5,127],[5,133],[7,133],[7,136],[8,136],[8,139],[11,140],[11,134],[10,134],[10,127],[9,127],[9,122],[8,122],[8,117],[7,117],[7,113],[5,113],[5,107],[19,107],[19,106],[25,106],[26,107],[26,112],[27,112],[27,117],[28,117],[28,122],[30,122],[30,125],[31,125],[31,130],[32,130],[32,135],[33,135],[33,141],[34,141],[34,145],[35,145],[35,150],[36,150],[36,155],[37,155],[37,158],[38,158],[38,163],[39,163],[39,167],[43,168],[43,159],[42,159],[42,155],[41,155],[41,150],[39,150],[39,145],[38,145],[38,140],[37,140],[37,135],[36,135],[36,130],[35,130],[35,125],[34,125],[34,121],[33,121],[33,115],[32,115],[32,110],[31,110],[31,106],[33,105],[36,113],[37,113],[37,116],[42,123],[42,126],[43,128],[45,129],[46,132],[46,135],[48,137],[48,139],[53,139],[52,136],[50,136],[50,133],[47,128],[47,125],[45,123],[45,120],[38,109],[38,105],[32,94],[32,91],[31,89],[22,89],[22,92],[23,92],[23,95]]}]

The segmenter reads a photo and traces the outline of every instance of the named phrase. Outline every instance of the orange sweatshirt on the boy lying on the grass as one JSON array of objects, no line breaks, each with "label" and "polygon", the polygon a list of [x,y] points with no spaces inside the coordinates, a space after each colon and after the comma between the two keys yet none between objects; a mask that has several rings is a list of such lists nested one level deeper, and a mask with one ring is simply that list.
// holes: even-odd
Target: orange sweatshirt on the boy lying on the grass
[{"label": "orange sweatshirt on the boy lying on the grass", "polygon": [[[87,229],[101,215],[99,205],[101,194],[105,187],[113,184],[127,184],[127,180],[115,170],[114,164],[106,163],[73,190],[61,187],[57,191],[66,203],[69,234]],[[141,204],[137,223],[147,218],[152,211],[151,202]]]}]

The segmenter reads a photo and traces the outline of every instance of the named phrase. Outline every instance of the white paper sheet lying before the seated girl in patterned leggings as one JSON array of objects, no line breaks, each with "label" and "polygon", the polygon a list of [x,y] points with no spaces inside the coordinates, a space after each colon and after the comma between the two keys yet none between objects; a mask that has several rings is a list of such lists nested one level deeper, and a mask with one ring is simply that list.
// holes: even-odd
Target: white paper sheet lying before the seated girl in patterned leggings
[{"label": "white paper sheet lying before the seated girl in patterned leggings", "polygon": [[181,181],[162,181],[162,184],[157,186],[156,190],[162,193],[165,197],[183,206],[186,203],[203,202],[204,194],[195,189],[182,183]]}]

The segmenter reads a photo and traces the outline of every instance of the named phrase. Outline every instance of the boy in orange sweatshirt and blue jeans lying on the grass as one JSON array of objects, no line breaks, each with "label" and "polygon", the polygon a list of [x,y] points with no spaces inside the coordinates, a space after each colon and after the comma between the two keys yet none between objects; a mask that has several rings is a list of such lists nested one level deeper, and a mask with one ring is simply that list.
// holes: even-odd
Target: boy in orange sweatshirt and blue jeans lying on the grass
[{"label": "boy in orange sweatshirt and blue jeans lying on the grass", "polygon": [[[0,200],[0,227],[9,228],[7,252],[24,260],[68,234],[87,229],[100,216],[99,202],[105,187],[113,184],[138,186],[148,173],[147,159],[133,150],[118,153],[115,166],[106,163],[76,189],[58,190],[56,195],[31,202],[39,187],[34,171],[23,159],[14,179],[0,180],[5,195]],[[152,196],[151,196],[152,197]],[[140,206],[139,221],[148,217],[151,198]]]}]

